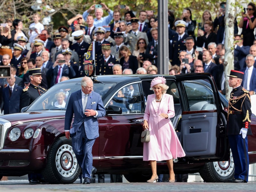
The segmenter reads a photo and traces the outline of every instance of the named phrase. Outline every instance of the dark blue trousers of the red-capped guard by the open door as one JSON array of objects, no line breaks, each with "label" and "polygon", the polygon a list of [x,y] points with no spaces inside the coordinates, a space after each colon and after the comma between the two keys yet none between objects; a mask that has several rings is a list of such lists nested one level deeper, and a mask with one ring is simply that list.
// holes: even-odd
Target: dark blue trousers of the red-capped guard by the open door
[{"label": "dark blue trousers of the red-capped guard by the open door", "polygon": [[235,164],[234,177],[248,181],[249,155],[247,136],[243,139],[242,135],[228,135],[228,140]]}]

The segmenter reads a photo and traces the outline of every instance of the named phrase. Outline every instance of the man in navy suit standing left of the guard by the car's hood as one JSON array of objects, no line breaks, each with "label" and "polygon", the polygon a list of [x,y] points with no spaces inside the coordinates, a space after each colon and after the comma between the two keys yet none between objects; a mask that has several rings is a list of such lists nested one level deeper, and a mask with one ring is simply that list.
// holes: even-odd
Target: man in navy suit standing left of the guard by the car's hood
[{"label": "man in navy suit standing left of the guard by the car's hood", "polygon": [[20,112],[20,95],[22,88],[15,84],[15,77],[11,74],[11,78],[6,78],[9,86],[3,89],[4,115]]}]

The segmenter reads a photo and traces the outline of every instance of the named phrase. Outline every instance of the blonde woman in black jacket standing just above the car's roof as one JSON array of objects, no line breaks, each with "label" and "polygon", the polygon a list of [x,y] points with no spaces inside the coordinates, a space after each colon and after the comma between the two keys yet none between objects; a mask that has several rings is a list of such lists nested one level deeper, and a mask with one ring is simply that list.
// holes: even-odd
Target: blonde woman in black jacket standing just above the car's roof
[{"label": "blonde woman in black jacket standing just above the car's roof", "polygon": [[137,57],[133,56],[130,49],[127,46],[122,46],[119,49],[120,65],[122,69],[132,69],[133,74],[138,69]]}]

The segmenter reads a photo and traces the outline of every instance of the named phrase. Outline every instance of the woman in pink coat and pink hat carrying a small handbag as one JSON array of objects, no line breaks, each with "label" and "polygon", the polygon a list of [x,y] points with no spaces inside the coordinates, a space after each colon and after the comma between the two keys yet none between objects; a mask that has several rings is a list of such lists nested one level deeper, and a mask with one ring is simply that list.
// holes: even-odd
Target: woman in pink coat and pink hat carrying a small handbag
[{"label": "woman in pink coat and pink hat carrying a small handbag", "polygon": [[155,94],[148,95],[143,123],[143,128],[150,131],[150,141],[143,146],[143,161],[149,161],[152,170],[147,182],[157,181],[156,161],[164,160],[169,169],[169,182],[174,182],[172,158],[183,157],[185,152],[170,121],[175,116],[173,97],[166,94],[169,86],[164,77],[154,78],[150,87]]}]

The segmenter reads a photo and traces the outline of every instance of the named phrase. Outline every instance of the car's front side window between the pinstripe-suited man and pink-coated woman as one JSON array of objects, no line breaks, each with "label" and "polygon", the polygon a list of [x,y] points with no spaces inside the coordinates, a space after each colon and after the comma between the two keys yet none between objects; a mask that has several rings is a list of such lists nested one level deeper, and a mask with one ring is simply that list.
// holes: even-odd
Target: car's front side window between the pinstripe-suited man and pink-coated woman
[{"label": "car's front side window between the pinstripe-suited man and pink-coated woman", "polygon": [[109,105],[121,107],[122,114],[144,113],[141,108],[139,84],[130,84],[119,89]]}]

